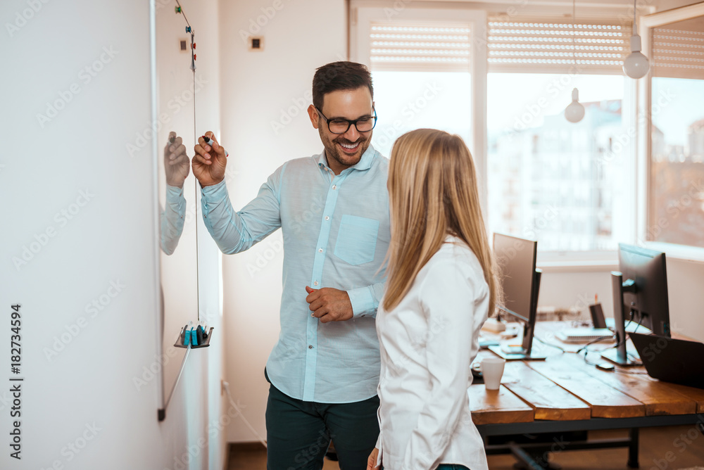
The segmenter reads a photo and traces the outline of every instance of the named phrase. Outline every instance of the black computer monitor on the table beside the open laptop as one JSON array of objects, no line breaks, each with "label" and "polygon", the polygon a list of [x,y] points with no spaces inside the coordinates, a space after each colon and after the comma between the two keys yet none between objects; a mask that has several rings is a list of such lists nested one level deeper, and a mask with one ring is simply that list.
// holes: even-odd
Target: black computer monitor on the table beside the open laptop
[{"label": "black computer monitor on the table beside the open laptop", "polygon": [[[660,336],[670,337],[665,253],[619,243],[620,272],[611,272],[616,348],[602,357],[622,366],[634,365],[626,352],[626,322],[636,322]],[[640,329],[639,329],[640,331]]]}]

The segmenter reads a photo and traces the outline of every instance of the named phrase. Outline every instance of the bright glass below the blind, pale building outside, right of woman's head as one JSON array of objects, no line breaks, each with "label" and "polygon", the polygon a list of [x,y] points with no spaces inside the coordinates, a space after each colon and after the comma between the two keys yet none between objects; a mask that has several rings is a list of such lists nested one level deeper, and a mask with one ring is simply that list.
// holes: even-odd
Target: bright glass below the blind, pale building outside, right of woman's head
[{"label": "bright glass below the blind, pale building outside, right of woman's head", "polygon": [[[612,250],[624,240],[627,158],[619,75],[490,73],[487,80],[489,231],[543,251]],[[565,119],[572,89],[586,108]]]}]

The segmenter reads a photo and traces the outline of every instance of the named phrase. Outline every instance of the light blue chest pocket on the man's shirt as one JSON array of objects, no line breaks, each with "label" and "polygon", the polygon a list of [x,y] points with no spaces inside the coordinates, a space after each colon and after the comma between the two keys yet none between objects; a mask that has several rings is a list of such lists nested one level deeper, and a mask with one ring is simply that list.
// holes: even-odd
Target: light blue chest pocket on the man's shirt
[{"label": "light blue chest pocket on the man's shirt", "polygon": [[378,233],[378,220],[343,215],[335,243],[335,256],[351,265],[373,261]]}]

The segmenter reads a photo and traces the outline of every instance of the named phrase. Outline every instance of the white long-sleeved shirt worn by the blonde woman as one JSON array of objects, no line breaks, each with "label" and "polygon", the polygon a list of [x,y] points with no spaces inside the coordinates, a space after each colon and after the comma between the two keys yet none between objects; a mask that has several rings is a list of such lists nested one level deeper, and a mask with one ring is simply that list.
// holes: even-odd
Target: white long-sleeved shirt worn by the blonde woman
[{"label": "white long-sleeved shirt worn by the blonde woman", "polygon": [[467,395],[479,329],[489,314],[479,260],[448,236],[396,308],[386,312],[382,304],[377,464],[385,470],[488,469]]}]

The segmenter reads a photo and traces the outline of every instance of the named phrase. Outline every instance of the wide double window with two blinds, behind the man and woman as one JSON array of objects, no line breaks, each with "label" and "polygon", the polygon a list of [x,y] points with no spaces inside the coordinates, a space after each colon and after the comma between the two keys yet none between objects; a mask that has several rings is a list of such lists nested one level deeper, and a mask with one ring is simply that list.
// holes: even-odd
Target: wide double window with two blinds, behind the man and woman
[{"label": "wide double window with two blinds, behind the man and woman", "polygon": [[[489,231],[537,239],[543,253],[576,260],[634,238],[630,24],[357,5],[351,58],[375,81],[375,148],[389,155],[419,127],[460,134]],[[564,117],[575,87],[586,108],[576,124]]]}]

